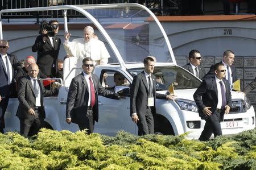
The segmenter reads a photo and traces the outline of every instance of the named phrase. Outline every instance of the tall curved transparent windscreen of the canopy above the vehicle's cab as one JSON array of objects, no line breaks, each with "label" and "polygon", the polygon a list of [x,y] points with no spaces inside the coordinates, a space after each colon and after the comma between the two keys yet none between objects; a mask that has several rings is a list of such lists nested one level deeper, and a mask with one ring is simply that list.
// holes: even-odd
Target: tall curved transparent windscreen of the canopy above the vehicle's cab
[{"label": "tall curved transparent windscreen of the canopy above the vehicle's cab", "polygon": [[[133,6],[133,4],[113,5],[85,9],[85,11],[104,27],[125,63],[142,63],[146,56],[155,56],[158,62],[172,62],[167,42],[159,26],[141,7]],[[89,20],[88,23],[90,23]],[[109,63],[118,63],[112,49],[108,47],[100,32],[96,34],[99,34],[98,39],[105,42],[110,53]]]}]

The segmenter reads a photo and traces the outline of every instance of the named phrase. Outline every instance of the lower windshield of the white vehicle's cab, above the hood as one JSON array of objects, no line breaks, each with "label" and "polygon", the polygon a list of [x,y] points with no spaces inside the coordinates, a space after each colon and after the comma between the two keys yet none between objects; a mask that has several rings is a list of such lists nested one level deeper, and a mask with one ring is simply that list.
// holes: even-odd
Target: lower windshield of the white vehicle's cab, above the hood
[{"label": "lower windshield of the white vehicle's cab, above the hood", "polygon": [[[129,69],[131,76],[141,73],[144,68]],[[174,84],[174,89],[193,89],[198,88],[201,81],[191,73],[180,67],[155,67],[154,73],[156,90],[167,90],[168,86]]]}]

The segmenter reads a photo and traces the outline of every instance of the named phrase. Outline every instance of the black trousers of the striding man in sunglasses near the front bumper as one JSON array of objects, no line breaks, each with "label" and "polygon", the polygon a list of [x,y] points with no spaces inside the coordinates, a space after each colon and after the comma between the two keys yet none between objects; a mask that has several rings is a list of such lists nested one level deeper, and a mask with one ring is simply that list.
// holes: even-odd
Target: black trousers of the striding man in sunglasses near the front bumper
[{"label": "black trousers of the striding man in sunglasses near the front bumper", "polygon": [[216,136],[222,135],[221,125],[220,125],[220,113],[215,111],[205,121],[206,122],[204,125],[204,130],[202,131],[199,137],[199,140],[207,141],[210,139],[210,136],[212,136],[212,134],[214,135],[214,138]]}]

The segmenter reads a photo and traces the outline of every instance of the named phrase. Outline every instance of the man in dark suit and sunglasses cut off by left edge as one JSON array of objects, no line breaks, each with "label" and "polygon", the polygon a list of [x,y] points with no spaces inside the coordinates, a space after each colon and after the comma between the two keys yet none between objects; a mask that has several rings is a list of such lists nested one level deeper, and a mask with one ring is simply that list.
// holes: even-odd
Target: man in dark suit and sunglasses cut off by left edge
[{"label": "man in dark suit and sunglasses cut off by left edge", "polygon": [[15,69],[18,66],[18,60],[15,55],[7,53],[9,43],[6,40],[0,40],[0,132],[5,128],[5,111],[8,106],[9,97],[15,88],[14,76]]}]

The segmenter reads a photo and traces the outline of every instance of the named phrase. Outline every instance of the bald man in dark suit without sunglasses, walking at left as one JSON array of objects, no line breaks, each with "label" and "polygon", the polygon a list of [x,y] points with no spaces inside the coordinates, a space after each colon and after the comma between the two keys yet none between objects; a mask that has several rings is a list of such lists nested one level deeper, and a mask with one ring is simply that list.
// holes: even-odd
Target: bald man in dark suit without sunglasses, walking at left
[{"label": "bald man in dark suit without sunglasses, walking at left", "polygon": [[25,137],[38,133],[46,118],[44,96],[51,96],[54,91],[45,90],[43,82],[38,79],[38,65],[31,64],[29,76],[19,80],[19,106],[16,116],[20,121],[20,135]]}]

